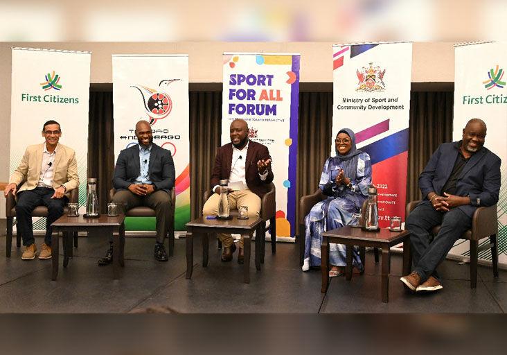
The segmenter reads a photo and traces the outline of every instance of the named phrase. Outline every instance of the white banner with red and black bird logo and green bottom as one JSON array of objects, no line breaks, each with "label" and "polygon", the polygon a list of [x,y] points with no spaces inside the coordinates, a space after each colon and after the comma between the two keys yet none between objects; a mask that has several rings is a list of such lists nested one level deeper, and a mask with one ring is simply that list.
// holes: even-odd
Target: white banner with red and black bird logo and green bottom
[{"label": "white banner with red and black bird logo and green bottom", "polygon": [[[176,170],[175,230],[190,220],[188,55],[113,55],[114,155],[138,144],[136,123],[170,150]],[[126,230],[155,230],[154,217],[125,219]]]}]

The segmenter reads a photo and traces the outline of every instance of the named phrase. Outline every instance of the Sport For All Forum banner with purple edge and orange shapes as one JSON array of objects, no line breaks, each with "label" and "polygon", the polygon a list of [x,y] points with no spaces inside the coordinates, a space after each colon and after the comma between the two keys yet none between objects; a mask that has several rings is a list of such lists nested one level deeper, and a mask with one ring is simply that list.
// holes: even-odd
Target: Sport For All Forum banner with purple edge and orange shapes
[{"label": "Sport For All Forum banner with purple edge and orange shapes", "polygon": [[[272,157],[276,187],[276,236],[294,241],[299,106],[299,54],[224,53],[222,144],[229,126],[244,119],[249,139]],[[256,162],[252,162],[256,164]]]}]

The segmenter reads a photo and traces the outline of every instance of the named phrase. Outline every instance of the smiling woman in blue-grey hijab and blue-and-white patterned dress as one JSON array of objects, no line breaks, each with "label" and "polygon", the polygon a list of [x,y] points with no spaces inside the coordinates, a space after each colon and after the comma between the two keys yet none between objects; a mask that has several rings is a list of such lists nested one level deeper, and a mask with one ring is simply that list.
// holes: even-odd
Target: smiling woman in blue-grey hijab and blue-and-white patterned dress
[{"label": "smiling woman in blue-grey hijab and blue-and-white patterned dress", "polygon": [[[322,233],[350,224],[352,214],[359,212],[371,184],[370,156],[355,147],[355,134],[344,128],[335,139],[336,156],[326,160],[319,189],[328,196],[312,207],[305,217],[305,259],[303,271],[321,265]],[[330,243],[330,277],[344,274],[345,246]],[[353,264],[363,271],[359,251],[353,249]]]}]

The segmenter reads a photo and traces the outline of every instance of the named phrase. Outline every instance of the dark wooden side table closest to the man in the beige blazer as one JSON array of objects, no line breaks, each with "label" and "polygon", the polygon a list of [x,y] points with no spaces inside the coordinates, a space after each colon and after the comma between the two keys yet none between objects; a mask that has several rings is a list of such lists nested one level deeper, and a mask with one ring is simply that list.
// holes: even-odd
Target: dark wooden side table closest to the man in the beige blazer
[{"label": "dark wooden side table closest to the man in the beige blazer", "polygon": [[[125,266],[123,258],[123,250],[125,248],[125,215],[109,217],[105,214],[98,218],[84,218],[82,215],[78,217],[61,216],[53,222],[53,231],[57,232],[56,236],[51,239],[51,250],[53,252],[53,272],[51,279],[56,280],[58,276],[58,248],[60,247],[60,232],[63,234],[64,249],[64,268],[69,264],[69,258],[72,257],[72,232],[89,232],[92,229],[100,228],[106,235],[113,236],[113,277],[120,278],[120,266]],[[118,232],[118,236],[114,235]]]}]

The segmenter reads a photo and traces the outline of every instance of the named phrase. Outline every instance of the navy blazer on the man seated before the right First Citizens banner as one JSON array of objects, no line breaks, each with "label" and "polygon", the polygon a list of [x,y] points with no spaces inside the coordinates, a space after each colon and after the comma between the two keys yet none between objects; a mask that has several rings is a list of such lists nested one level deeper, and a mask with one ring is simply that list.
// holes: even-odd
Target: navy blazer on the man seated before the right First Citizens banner
[{"label": "navy blazer on the man seated before the right First Citizens banner", "polygon": [[[421,203],[427,202],[428,193],[432,191],[441,193],[445,182],[452,173],[460,147],[461,141],[444,143],[438,146],[436,152],[433,153],[419,176],[419,188],[425,198]],[[456,181],[455,193],[457,196],[468,196],[471,203],[456,208],[461,209],[472,218],[477,207],[488,207],[498,202],[500,163],[501,159],[485,147],[472,154]],[[444,192],[442,191],[442,193]]]}]

